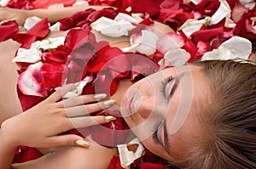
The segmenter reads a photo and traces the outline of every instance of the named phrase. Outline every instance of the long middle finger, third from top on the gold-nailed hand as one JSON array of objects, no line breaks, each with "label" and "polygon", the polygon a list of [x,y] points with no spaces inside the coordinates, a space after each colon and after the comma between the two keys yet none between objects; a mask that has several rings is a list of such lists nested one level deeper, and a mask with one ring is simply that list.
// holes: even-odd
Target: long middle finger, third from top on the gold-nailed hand
[{"label": "long middle finger, third from top on the gold-nailed hand", "polygon": [[95,113],[97,111],[107,109],[114,103],[115,101],[113,99],[109,99],[107,101],[99,102],[96,104],[85,104],[85,105],[79,105],[75,107],[68,107],[65,110],[68,117],[75,117],[75,116],[89,115],[90,113]]}]

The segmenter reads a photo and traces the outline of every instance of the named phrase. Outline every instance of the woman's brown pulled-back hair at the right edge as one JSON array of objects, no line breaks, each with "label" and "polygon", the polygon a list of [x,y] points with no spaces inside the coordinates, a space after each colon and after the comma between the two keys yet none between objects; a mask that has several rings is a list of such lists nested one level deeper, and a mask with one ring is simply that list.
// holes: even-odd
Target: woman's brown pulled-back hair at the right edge
[{"label": "woman's brown pulled-back hair at the right edge", "polygon": [[233,60],[209,60],[201,66],[211,101],[200,110],[205,137],[191,140],[184,161],[188,169],[256,167],[256,66]]}]

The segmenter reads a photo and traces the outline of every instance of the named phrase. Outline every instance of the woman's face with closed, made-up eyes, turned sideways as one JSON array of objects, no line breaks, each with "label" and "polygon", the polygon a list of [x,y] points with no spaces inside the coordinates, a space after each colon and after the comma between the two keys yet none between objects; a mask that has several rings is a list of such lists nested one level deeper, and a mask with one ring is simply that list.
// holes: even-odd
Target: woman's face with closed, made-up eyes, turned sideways
[{"label": "woman's face with closed, made-up eyes, turned sideways", "polygon": [[191,139],[201,136],[196,112],[207,99],[208,86],[200,67],[161,70],[127,89],[121,112],[147,149],[177,161],[186,155]]}]

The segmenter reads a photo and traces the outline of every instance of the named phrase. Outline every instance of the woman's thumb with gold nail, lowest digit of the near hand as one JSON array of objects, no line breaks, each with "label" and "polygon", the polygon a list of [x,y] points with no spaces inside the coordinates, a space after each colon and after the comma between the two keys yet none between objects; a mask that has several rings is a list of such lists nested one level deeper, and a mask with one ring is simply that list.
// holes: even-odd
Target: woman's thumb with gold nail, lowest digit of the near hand
[{"label": "woman's thumb with gold nail, lowest digit of the near hand", "polygon": [[89,143],[84,141],[84,138],[75,134],[54,136],[49,142],[52,143],[51,145],[53,146],[79,145],[84,148],[89,147]]}]

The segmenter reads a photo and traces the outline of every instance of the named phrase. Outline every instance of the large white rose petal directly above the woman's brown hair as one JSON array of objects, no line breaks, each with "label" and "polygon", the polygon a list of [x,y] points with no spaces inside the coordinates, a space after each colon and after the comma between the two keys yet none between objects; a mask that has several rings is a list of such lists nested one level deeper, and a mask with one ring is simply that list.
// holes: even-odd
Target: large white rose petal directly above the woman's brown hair
[{"label": "large white rose petal directly above the woman's brown hair", "polygon": [[223,42],[218,49],[205,53],[201,60],[209,59],[248,59],[252,53],[252,43],[243,37],[231,37]]}]

